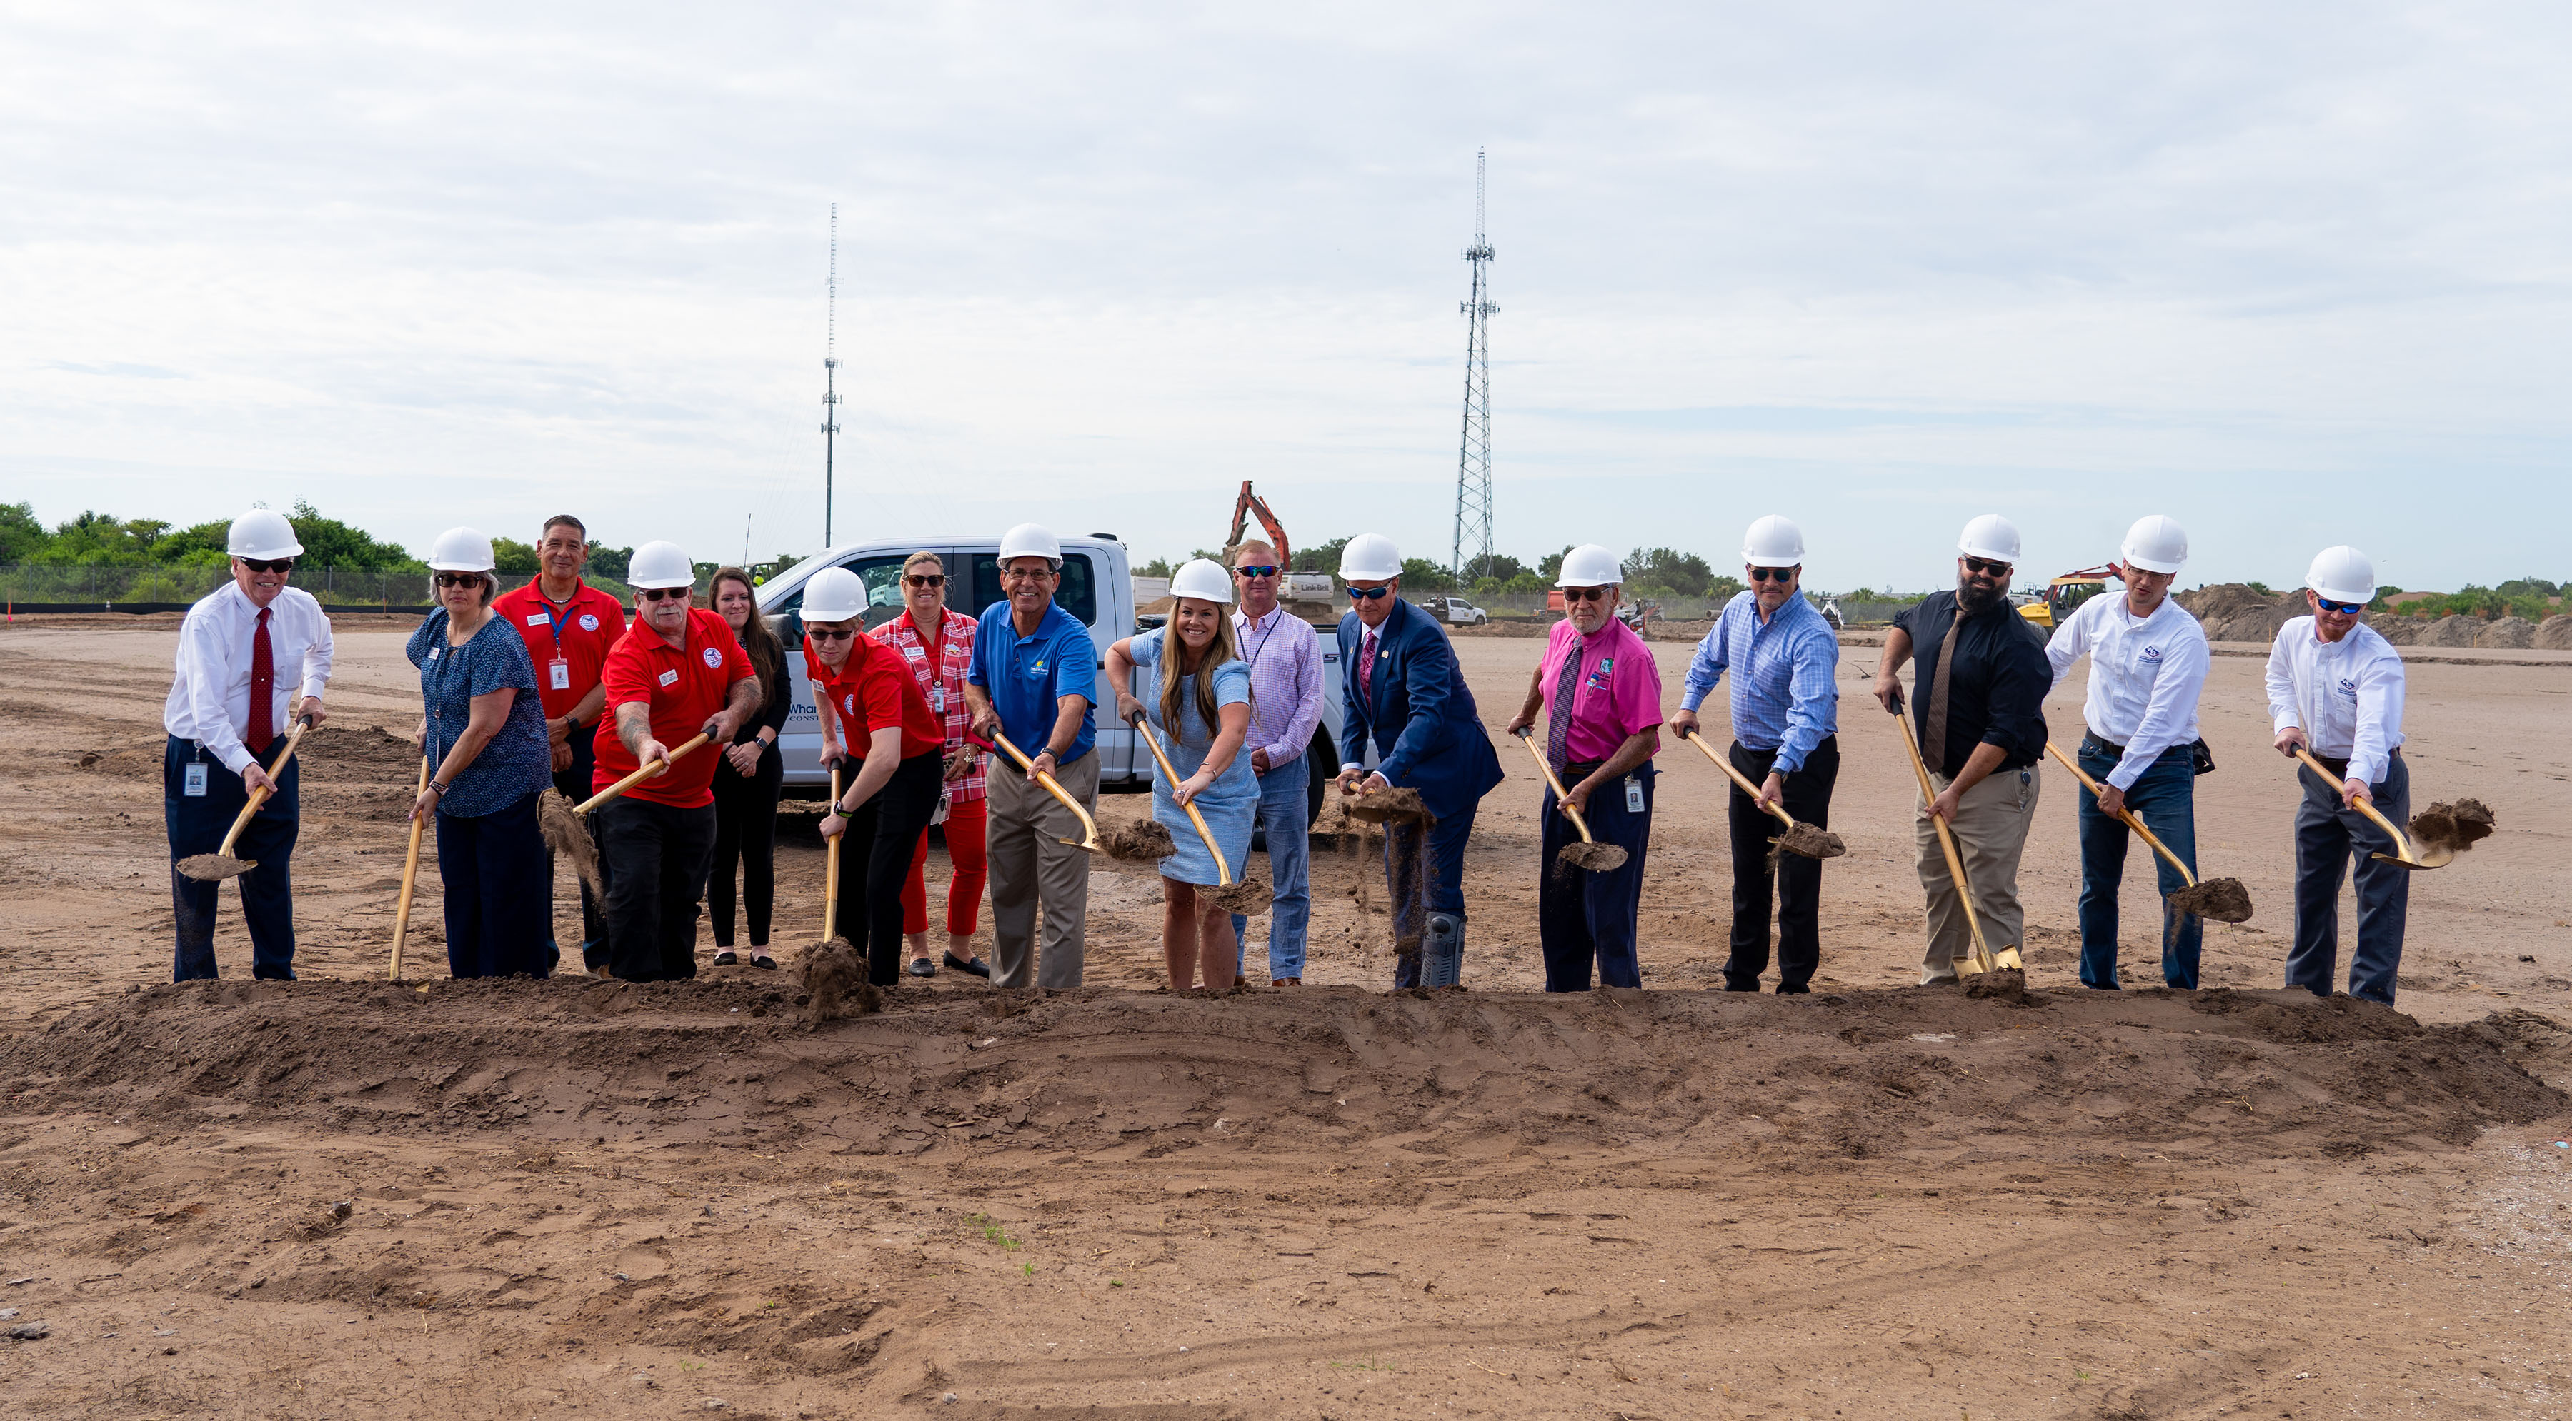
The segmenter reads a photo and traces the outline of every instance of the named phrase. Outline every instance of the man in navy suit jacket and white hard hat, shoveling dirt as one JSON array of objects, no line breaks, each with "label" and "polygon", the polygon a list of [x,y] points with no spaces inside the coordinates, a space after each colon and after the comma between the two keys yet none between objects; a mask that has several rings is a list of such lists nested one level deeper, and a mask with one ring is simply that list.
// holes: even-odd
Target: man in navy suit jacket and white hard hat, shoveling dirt
[{"label": "man in navy suit jacket and white hard hat, shoveling dirt", "polygon": [[[1394,987],[1456,987],[1463,976],[1463,845],[1474,838],[1481,797],[1507,776],[1445,630],[1402,601],[1394,540],[1381,532],[1350,537],[1340,550],[1340,581],[1355,606],[1340,617],[1340,791],[1412,789],[1435,820],[1425,843],[1417,825],[1384,825],[1394,940],[1420,943],[1417,956],[1394,966]],[[1376,771],[1366,771],[1368,743]],[[1425,887],[1409,881],[1412,866],[1427,876]]]}]

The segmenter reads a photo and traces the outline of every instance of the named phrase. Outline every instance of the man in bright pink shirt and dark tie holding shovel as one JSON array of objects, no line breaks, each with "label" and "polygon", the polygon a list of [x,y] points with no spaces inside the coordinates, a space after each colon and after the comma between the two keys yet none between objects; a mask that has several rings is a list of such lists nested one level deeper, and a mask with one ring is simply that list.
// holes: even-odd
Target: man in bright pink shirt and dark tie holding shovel
[{"label": "man in bright pink shirt and dark tie holding shovel", "polygon": [[[1546,992],[1587,992],[1592,961],[1602,987],[1641,987],[1636,915],[1651,848],[1651,758],[1662,753],[1662,671],[1644,637],[1615,617],[1626,594],[1615,552],[1597,542],[1564,552],[1553,586],[1564,591],[1564,619],[1546,632],[1546,655],[1510,719],[1510,735],[1528,735],[1535,712],[1546,712],[1546,763],[1564,781],[1561,804],[1548,784],[1538,809],[1535,933]],[[1556,871],[1553,856],[1579,843],[1566,809],[1589,822],[1589,838],[1623,848],[1626,863],[1605,874]]]}]

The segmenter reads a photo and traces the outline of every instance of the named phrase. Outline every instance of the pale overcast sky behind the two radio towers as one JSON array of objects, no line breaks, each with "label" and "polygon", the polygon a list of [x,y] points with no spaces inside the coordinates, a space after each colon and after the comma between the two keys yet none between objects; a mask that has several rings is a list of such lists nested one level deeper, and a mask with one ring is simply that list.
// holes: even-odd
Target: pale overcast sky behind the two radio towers
[{"label": "pale overcast sky behind the two radio towers", "polygon": [[[430,13],[435,10],[435,13]],[[0,501],[2572,576],[2562,5],[0,5]]]}]

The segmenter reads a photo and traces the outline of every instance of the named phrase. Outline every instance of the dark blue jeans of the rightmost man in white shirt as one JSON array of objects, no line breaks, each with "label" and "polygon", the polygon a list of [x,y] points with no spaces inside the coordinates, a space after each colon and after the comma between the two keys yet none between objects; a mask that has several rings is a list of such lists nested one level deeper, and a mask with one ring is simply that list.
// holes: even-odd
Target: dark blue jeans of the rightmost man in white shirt
[{"label": "dark blue jeans of the rightmost man in white shirt", "polygon": [[[2402,920],[2410,912],[2410,869],[2377,863],[2392,853],[2366,815],[2341,804],[2341,786],[2294,768],[2305,802],[2294,807],[2294,948],[2287,953],[2287,987],[2315,997],[2330,994],[2341,961],[2341,876],[2359,866],[2359,951],[2348,953],[2348,994],[2395,1005],[2395,971],[2402,966]],[[2410,768],[2395,755],[2384,779],[2369,786],[2377,812],[2392,822],[2410,820]]]}]

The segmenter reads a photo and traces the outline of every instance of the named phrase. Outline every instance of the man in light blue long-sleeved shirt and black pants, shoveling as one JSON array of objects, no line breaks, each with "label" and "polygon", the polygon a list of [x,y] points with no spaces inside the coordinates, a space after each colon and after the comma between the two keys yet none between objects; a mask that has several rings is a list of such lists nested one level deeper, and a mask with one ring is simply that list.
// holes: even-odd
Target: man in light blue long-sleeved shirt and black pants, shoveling
[{"label": "man in light blue long-sleeved shirt and black pants, shoveling", "polygon": [[1726,992],[1757,992],[1770,956],[1770,897],[1777,899],[1777,994],[1813,989],[1821,969],[1821,861],[1770,853],[1770,804],[1829,827],[1839,784],[1839,632],[1803,599],[1803,529],[1770,514],[1741,537],[1741,588],[1698,642],[1669,727],[1698,732],[1698,707],[1734,676],[1734,743],[1726,755],[1757,797],[1734,784],[1726,812],[1734,845],[1734,943]]}]

